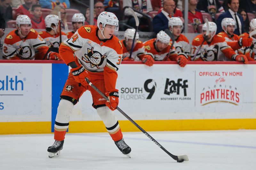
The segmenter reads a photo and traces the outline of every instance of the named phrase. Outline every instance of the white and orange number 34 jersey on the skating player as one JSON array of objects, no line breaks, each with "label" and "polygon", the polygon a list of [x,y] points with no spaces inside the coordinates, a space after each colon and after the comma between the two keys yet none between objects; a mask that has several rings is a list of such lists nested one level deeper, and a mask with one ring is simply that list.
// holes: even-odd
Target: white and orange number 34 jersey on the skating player
[{"label": "white and orange number 34 jersey on the skating player", "polygon": [[82,26],[74,35],[61,43],[60,57],[68,64],[76,58],[92,77],[104,77],[107,91],[116,88],[117,70],[122,61],[123,45],[116,36],[100,40],[97,26]]}]

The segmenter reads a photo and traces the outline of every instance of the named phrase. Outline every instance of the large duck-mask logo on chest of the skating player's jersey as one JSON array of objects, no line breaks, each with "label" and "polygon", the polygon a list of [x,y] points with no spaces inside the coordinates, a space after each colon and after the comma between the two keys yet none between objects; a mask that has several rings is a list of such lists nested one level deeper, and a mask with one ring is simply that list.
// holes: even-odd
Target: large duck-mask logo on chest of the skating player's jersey
[{"label": "large duck-mask logo on chest of the skating player's jersey", "polygon": [[82,56],[82,60],[85,63],[90,63],[91,67],[97,67],[98,69],[103,68],[100,65],[103,63],[104,59],[107,57],[106,53],[104,55],[100,54],[98,51],[93,51],[93,47],[91,49],[87,48],[87,54]]}]

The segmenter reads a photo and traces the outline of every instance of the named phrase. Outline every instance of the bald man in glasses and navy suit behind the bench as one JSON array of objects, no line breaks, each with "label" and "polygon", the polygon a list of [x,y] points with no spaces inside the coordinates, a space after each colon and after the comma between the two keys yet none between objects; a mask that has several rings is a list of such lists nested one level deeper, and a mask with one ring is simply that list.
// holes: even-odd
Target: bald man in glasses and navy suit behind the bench
[{"label": "bald man in glasses and navy suit behind the bench", "polygon": [[168,29],[168,21],[172,17],[175,9],[175,2],[173,0],[164,0],[163,10],[153,18],[154,32],[157,34],[161,30]]}]

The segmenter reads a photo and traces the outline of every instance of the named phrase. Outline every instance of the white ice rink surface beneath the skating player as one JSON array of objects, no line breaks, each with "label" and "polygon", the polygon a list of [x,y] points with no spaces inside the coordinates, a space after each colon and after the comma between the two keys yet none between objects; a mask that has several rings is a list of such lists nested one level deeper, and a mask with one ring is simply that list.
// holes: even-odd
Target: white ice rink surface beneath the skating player
[{"label": "white ice rink surface beneath the skating player", "polygon": [[[189,156],[177,163],[143,133],[124,133],[132,148],[123,155],[107,133],[67,134],[60,157],[48,158],[53,134],[0,136],[0,169],[254,169],[256,130],[150,132],[173,154]],[[246,158],[246,159],[245,159]]]}]

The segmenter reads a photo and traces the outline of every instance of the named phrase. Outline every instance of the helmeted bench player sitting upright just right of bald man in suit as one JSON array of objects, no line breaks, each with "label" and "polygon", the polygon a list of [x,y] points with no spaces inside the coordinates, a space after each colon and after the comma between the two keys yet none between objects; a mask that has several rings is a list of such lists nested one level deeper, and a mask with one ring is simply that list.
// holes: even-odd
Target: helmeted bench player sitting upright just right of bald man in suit
[{"label": "helmeted bench player sitting upright just right of bald man in suit", "polygon": [[175,47],[176,52],[186,54],[188,56],[188,60],[191,60],[188,38],[185,35],[181,34],[181,31],[183,29],[182,20],[179,17],[172,17],[170,18],[168,25],[170,31],[175,38],[173,46]]}]

